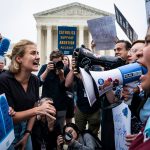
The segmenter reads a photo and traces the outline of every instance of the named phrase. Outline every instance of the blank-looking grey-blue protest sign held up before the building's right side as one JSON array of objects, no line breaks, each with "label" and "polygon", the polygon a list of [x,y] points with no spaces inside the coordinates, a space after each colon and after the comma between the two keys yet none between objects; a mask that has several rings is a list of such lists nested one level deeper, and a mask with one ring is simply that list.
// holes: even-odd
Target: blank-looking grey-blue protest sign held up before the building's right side
[{"label": "blank-looking grey-blue protest sign held up before the building's right side", "polygon": [[88,28],[96,44],[96,50],[113,49],[116,41],[114,16],[88,20]]}]

